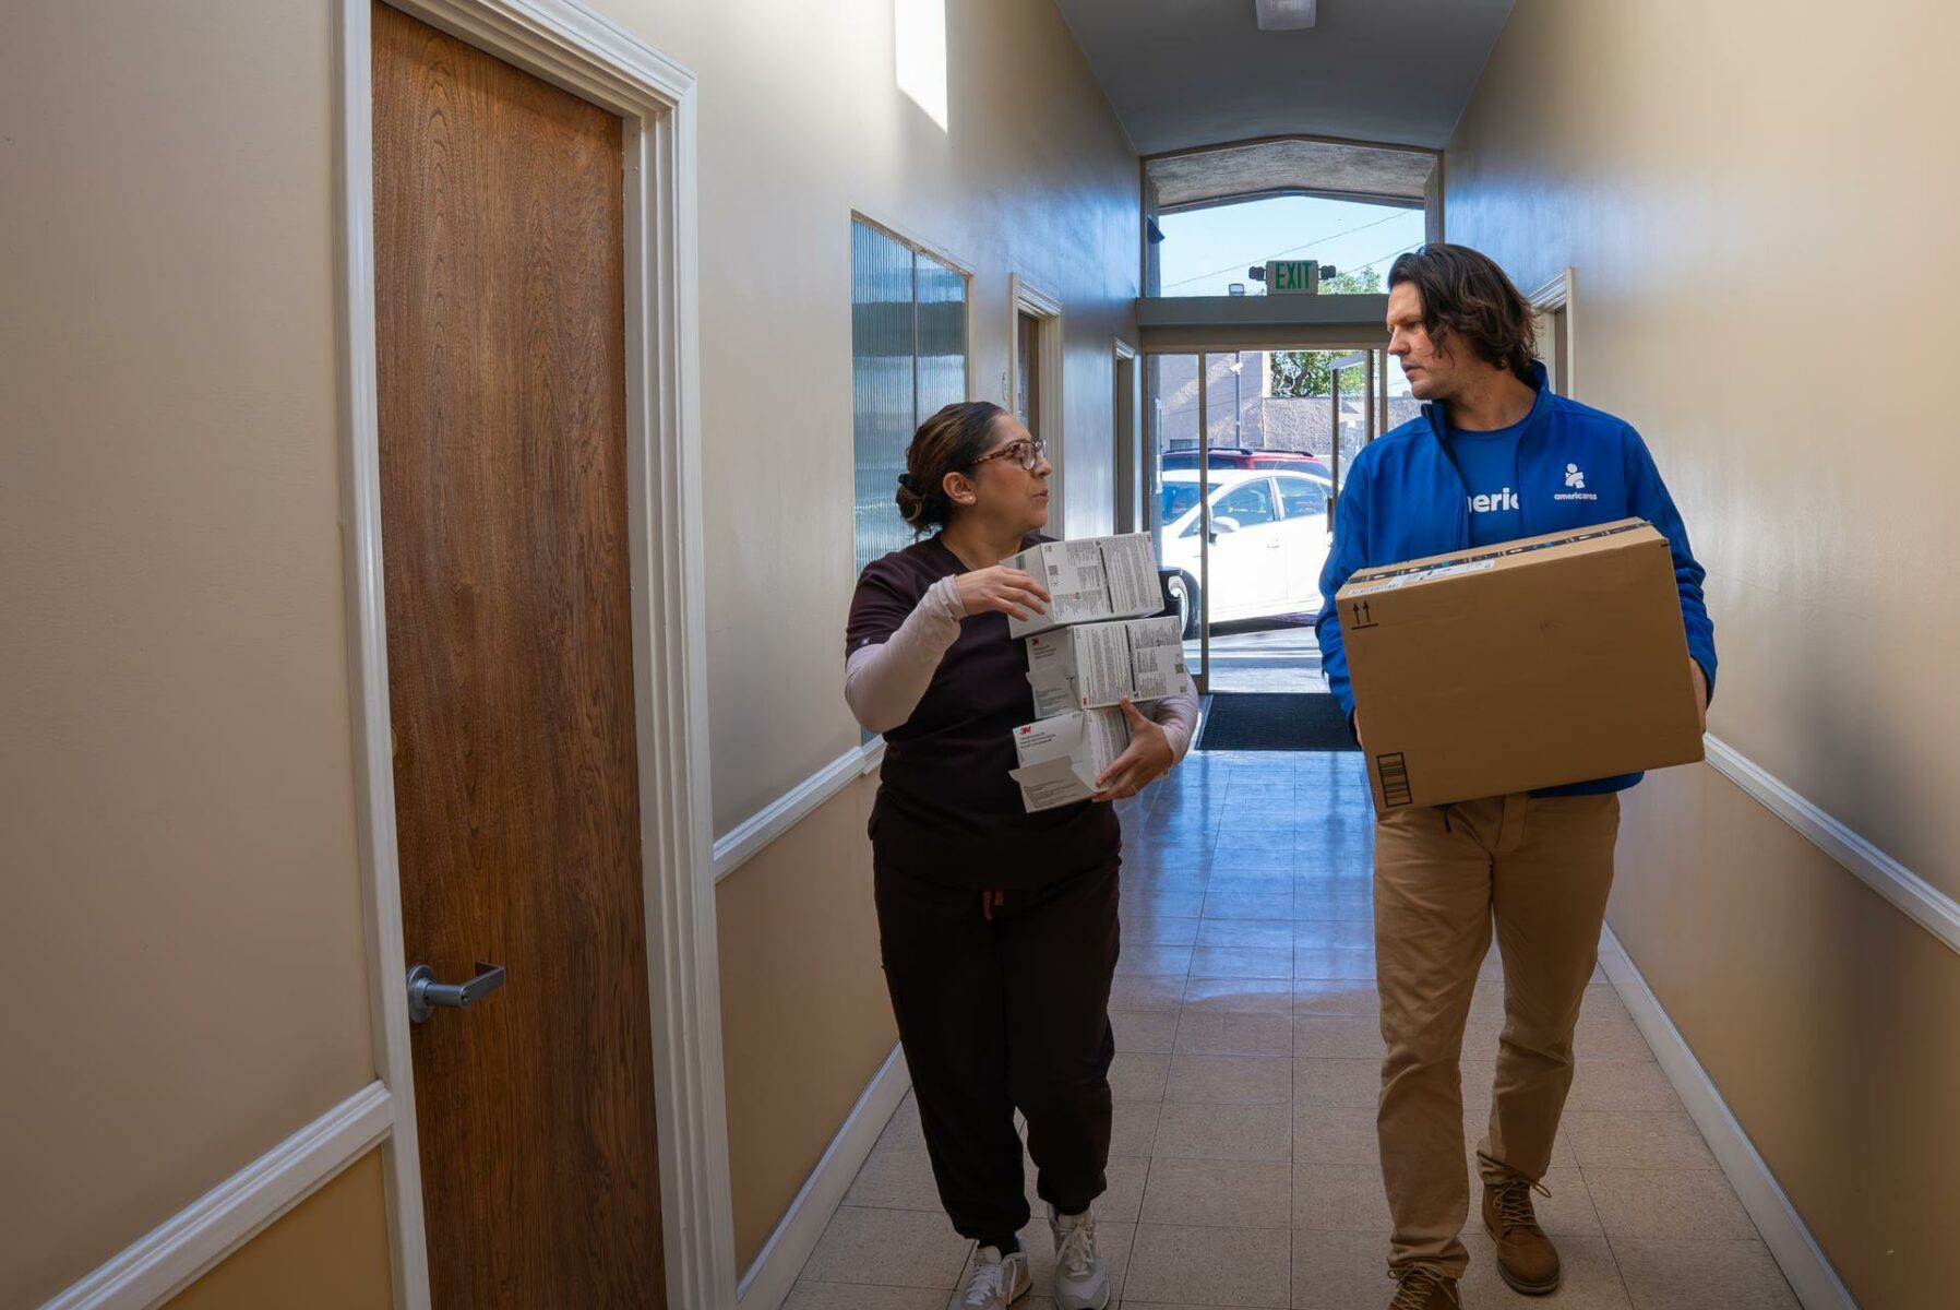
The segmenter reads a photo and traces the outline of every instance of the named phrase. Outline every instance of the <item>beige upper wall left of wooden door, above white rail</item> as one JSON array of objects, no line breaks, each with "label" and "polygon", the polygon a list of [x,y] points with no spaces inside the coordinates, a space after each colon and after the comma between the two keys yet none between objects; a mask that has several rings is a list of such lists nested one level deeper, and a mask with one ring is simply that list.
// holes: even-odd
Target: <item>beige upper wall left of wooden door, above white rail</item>
[{"label": "beige upper wall left of wooden door, above white rail", "polygon": [[329,6],[0,33],[0,1304],[374,1075]]}]

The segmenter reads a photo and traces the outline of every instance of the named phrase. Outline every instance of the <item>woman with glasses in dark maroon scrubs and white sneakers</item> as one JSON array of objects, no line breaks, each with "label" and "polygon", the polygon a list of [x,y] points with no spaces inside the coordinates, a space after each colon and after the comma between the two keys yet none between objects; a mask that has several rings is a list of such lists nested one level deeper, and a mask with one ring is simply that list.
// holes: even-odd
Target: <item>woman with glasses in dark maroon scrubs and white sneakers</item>
[{"label": "woman with glasses in dark maroon scrubs and white sneakers", "polygon": [[1149,716],[1125,702],[1131,745],[1103,790],[1025,812],[1009,771],[1033,696],[1007,616],[1045,612],[1049,594],[1002,561],[1041,539],[1051,473],[1043,443],[996,404],[929,418],[898,488],[921,539],[864,569],[845,639],[847,700],[886,739],[870,820],[886,982],[939,1198],[980,1243],[960,1302],[974,1310],[1029,1286],[1015,1108],[1049,1204],[1056,1304],[1109,1300],[1090,1216],[1115,1053],[1123,837],[1109,802],[1176,765],[1198,720],[1192,696]]}]

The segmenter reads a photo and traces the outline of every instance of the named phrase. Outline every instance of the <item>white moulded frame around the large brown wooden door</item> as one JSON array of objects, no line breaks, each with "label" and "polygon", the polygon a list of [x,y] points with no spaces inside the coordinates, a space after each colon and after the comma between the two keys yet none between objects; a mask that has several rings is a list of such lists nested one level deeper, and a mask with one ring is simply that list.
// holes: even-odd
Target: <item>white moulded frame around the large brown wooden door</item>
[{"label": "white moulded frame around the large brown wooden door", "polygon": [[[374,369],[368,0],[335,0],[341,504],[355,806],[398,1310],[429,1306],[396,853]],[[388,0],[621,118],[627,533],[661,1222],[672,1306],[735,1304],[708,779],[696,78],[574,0]]]}]

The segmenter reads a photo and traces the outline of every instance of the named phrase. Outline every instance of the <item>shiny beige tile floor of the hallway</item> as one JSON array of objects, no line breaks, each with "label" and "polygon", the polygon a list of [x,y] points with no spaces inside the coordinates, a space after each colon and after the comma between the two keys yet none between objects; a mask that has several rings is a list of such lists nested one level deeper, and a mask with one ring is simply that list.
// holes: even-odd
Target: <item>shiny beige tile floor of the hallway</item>
[{"label": "shiny beige tile floor of the hallway", "polygon": [[[1098,1234],[1127,1310],[1370,1310],[1388,1208],[1374,1145],[1382,1037],[1360,755],[1194,753],[1129,802],[1109,1190]],[[1466,1169],[1490,1112],[1495,953],[1464,1039]],[[1539,1202],[1564,1286],[1505,1288],[1470,1232],[1464,1304],[1795,1308],[1754,1224],[1605,975]],[[1033,1167],[1027,1171],[1033,1202]],[[1023,1234],[1053,1310],[1053,1241]],[[972,1255],[933,1190],[911,1098],[837,1210],[790,1310],[943,1310]]]}]

